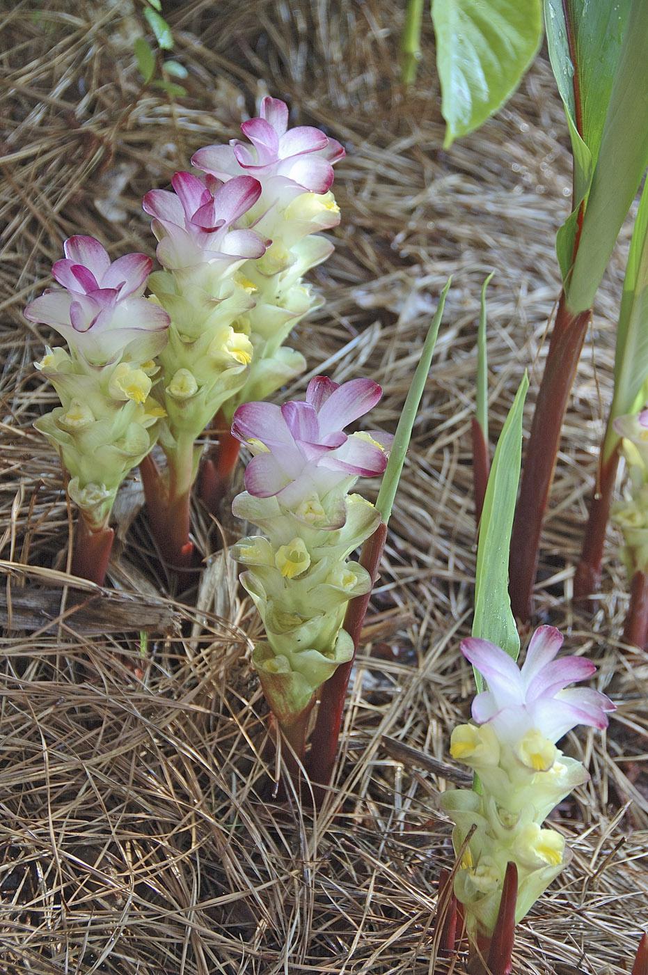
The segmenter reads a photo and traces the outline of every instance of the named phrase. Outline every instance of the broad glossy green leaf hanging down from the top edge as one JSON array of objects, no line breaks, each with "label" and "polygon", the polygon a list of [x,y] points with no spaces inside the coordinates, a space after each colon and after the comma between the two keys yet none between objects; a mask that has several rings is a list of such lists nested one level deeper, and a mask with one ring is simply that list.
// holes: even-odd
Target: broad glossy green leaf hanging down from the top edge
[{"label": "broad glossy green leaf hanging down from the top edge", "polygon": [[501,108],[534,59],[542,0],[432,0],[447,147]]}]

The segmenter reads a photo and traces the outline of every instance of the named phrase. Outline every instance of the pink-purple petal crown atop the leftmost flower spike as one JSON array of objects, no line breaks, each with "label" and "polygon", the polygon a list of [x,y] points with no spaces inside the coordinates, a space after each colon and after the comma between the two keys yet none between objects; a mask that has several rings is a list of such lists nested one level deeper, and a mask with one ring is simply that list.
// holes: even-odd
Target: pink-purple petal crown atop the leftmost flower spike
[{"label": "pink-purple petal crown atop the leftmost flower spike", "polygon": [[145,254],[125,254],[110,261],[94,237],[70,237],[65,257],[52,273],[61,286],[31,301],[30,322],[50,325],[70,348],[95,365],[128,352],[152,359],[167,341],[169,316],[142,297],[153,265]]}]

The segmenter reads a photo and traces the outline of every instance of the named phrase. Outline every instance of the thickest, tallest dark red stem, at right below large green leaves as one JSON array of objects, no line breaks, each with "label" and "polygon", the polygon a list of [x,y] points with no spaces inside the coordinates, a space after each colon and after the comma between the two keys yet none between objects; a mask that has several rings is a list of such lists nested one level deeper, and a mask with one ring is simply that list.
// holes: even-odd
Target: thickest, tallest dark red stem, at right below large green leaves
[{"label": "thickest, tallest dark red stem, at right below large green leaves", "polygon": [[545,373],[533,414],[511,542],[511,604],[526,622],[538,565],[543,519],[552,487],[560,430],[590,320],[590,310],[573,315],[564,292],[553,326]]}]

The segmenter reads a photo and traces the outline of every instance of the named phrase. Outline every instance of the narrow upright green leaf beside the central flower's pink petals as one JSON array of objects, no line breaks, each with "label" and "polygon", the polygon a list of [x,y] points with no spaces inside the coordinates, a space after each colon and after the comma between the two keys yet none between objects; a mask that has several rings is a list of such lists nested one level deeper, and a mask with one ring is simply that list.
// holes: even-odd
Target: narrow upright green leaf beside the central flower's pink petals
[{"label": "narrow upright green leaf beside the central flower's pink petals", "polygon": [[385,524],[387,524],[389,521],[389,516],[392,514],[394,498],[396,497],[396,491],[399,487],[402,465],[405,462],[405,454],[407,452],[407,448],[409,447],[412,427],[414,426],[414,421],[421,403],[421,397],[423,396],[423,390],[425,389],[425,384],[428,379],[428,372],[430,371],[430,366],[432,364],[432,356],[435,351],[435,345],[437,344],[438,327],[441,324],[441,318],[443,317],[445,296],[450,288],[451,282],[452,279],[450,278],[445,288],[440,293],[437,313],[433,319],[428,334],[426,335],[425,342],[423,343],[423,349],[421,350],[421,358],[419,359],[418,366],[414,371],[411,385],[407,392],[407,396],[405,397],[405,404],[402,408],[402,412],[400,413],[399,423],[394,436],[394,443],[392,444],[389,460],[387,461],[387,468],[383,474],[382,484],[380,486],[380,490],[378,491],[376,509],[380,513],[380,517]]}]

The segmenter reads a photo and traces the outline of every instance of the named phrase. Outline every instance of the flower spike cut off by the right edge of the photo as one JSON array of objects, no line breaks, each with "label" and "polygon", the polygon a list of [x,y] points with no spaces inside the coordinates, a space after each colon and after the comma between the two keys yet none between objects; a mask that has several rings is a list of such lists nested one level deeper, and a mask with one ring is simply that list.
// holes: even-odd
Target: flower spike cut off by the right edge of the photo
[{"label": "flower spike cut off by the right edge of the photo", "polygon": [[620,416],[615,430],[624,439],[622,451],[629,466],[629,497],[617,501],[612,519],[624,534],[622,558],[630,576],[648,572],[648,408]]}]

